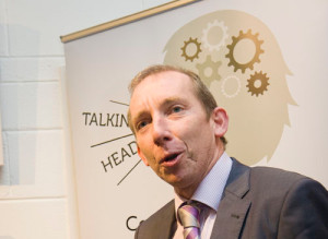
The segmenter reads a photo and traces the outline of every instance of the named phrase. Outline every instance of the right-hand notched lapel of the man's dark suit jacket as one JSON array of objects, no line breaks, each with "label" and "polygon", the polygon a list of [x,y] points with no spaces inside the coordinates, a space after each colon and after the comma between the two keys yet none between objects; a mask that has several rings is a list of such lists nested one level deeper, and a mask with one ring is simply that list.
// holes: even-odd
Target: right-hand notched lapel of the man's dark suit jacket
[{"label": "right-hand notched lapel of the man's dark suit jacket", "polygon": [[250,168],[233,159],[233,167],[216,213],[211,239],[236,239],[251,202],[244,196],[249,191]]}]

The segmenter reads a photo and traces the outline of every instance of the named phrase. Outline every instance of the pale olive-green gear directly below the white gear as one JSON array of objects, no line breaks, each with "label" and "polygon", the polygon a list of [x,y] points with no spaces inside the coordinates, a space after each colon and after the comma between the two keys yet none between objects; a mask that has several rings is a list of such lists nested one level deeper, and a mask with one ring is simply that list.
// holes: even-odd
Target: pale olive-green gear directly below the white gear
[{"label": "pale olive-green gear directly below the white gear", "polygon": [[221,64],[221,61],[212,61],[211,55],[207,57],[207,60],[203,63],[196,64],[200,79],[204,81],[204,83],[208,86],[211,84],[212,81],[219,81],[221,79],[219,74],[219,68]]}]

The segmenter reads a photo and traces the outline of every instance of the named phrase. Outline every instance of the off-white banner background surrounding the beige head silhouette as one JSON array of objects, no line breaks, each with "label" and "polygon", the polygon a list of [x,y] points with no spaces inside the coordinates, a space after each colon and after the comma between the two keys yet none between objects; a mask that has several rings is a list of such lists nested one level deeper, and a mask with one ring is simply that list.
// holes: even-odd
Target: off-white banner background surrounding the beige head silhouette
[{"label": "off-white banner background surrounding the beige head silhouette", "polygon": [[286,76],[297,104],[288,106],[291,127],[283,128],[271,159],[257,165],[297,171],[328,187],[328,2],[203,0],[65,45],[82,239],[132,238],[130,229],[173,198],[169,186],[138,164],[125,123],[127,85],[144,67],[163,63],[163,49],[180,27],[220,10],[261,21],[293,73]]}]

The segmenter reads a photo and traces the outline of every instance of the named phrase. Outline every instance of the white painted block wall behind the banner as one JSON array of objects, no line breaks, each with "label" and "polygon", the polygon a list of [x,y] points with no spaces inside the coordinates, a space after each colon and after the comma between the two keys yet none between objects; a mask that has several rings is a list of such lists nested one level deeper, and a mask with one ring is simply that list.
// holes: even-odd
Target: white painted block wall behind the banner
[{"label": "white painted block wall behind the banner", "polygon": [[78,238],[59,36],[167,0],[0,0],[0,239]]}]

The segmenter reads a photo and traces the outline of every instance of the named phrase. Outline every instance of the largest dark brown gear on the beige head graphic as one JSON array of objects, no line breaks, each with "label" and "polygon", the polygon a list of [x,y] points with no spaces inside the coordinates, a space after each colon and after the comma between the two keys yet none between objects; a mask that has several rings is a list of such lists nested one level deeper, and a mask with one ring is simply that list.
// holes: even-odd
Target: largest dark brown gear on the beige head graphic
[{"label": "largest dark brown gear on the beige head graphic", "polygon": [[[230,51],[229,51],[227,55],[225,55],[225,57],[230,59],[230,62],[229,62],[227,65],[229,67],[233,65],[234,67],[234,72],[236,72],[238,69],[241,69],[242,72],[244,73],[247,68],[253,70],[255,62],[258,62],[258,63],[260,62],[259,56],[260,56],[260,53],[263,53],[265,51],[260,48],[263,40],[259,40],[258,35],[259,35],[258,33],[255,34],[255,35],[251,35],[251,29],[248,29],[247,33],[243,33],[243,31],[239,31],[239,36],[237,36],[237,37],[233,36],[232,37],[233,41],[232,41],[231,45],[226,46]],[[234,58],[234,48],[236,47],[238,41],[241,41],[242,39],[246,39],[246,38],[253,40],[253,43],[256,46],[256,52],[255,52],[253,59],[249,62],[247,62],[245,64],[242,64],[242,63],[238,63]]]}]

